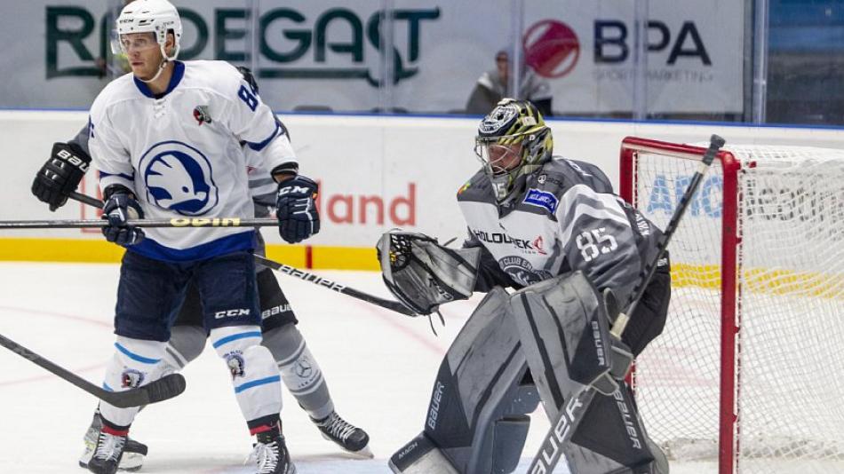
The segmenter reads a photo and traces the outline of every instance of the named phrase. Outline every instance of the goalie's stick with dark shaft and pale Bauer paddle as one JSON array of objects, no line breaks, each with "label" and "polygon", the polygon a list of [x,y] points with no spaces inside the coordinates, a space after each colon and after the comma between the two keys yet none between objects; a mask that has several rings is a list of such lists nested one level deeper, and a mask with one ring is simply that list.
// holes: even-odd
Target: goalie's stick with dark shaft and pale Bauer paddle
[{"label": "goalie's stick with dark shaft and pale Bauer paddle", "polygon": [[[674,209],[674,213],[665,227],[662,237],[657,241],[657,254],[639,274],[639,282],[633,288],[632,302],[627,306],[626,313],[621,312],[618,314],[612,325],[612,329],[610,329],[610,334],[617,339],[621,339],[621,336],[624,334],[627,323],[630,320],[628,315],[633,314],[633,311],[635,311],[636,306],[639,304],[645,288],[648,287],[650,279],[657,270],[659,259],[665,255],[668,242],[671,241],[674,232],[677,230],[678,225],[680,225],[680,220],[686,213],[686,209],[689,208],[689,203],[697,192],[697,187],[703,181],[706,171],[709,170],[721,146],[724,146],[724,138],[713,135],[709,139],[709,147],[706,149],[706,153],[695,172],[695,176],[691,178],[689,187],[686,188],[686,192],[677,204],[677,209]],[[539,452],[533,458],[533,461],[530,462],[528,467],[529,474],[550,473],[553,471],[557,462],[560,461],[564,446],[570,442],[580,422],[583,421],[586,409],[595,397],[595,391],[595,387],[587,386],[569,400],[566,400],[564,407],[559,407],[560,412],[557,418],[551,423],[551,428],[545,434],[545,438],[543,438],[542,444],[539,447]]]}]

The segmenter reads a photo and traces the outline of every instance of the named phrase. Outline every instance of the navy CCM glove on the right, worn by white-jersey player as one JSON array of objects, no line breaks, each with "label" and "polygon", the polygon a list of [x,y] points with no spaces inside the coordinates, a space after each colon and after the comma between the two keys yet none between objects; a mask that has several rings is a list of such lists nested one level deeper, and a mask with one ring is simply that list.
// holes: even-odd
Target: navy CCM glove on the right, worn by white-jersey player
[{"label": "navy CCM glove on the right, worn by white-jersey player", "polygon": [[289,243],[304,241],[320,232],[320,214],[316,210],[317,185],[311,178],[297,175],[282,181],[275,195],[278,233]]}]

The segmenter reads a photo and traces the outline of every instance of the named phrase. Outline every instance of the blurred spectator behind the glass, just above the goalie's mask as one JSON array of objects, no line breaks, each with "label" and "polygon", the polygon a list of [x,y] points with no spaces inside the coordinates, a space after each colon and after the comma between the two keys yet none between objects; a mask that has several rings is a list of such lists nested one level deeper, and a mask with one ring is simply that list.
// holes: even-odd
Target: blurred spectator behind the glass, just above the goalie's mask
[{"label": "blurred spectator behind the glass, just above the goalie's mask", "polygon": [[483,73],[475,83],[472,95],[466,103],[466,114],[487,115],[499,100],[518,97],[533,102],[542,115],[553,115],[551,86],[547,81],[540,78],[529,66],[522,64],[519,93],[514,94],[510,91],[510,53],[506,50],[498,51],[495,64],[495,69]]}]

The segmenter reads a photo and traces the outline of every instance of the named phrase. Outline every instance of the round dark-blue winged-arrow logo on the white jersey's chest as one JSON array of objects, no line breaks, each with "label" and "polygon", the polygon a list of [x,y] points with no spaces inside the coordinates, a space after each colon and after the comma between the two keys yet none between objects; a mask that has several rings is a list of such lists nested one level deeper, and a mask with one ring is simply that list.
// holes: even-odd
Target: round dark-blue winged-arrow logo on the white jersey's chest
[{"label": "round dark-blue winged-arrow logo on the white jersey's chest", "polygon": [[211,162],[202,152],[178,141],[157,143],[138,163],[147,201],[183,216],[201,216],[213,209],[218,189]]}]

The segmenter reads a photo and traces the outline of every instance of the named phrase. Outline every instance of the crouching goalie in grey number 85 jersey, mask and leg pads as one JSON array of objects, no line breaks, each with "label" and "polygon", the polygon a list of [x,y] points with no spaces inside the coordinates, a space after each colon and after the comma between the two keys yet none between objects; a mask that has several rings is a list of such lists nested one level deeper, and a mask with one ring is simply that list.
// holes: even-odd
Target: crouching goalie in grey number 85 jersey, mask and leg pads
[{"label": "crouching goalie in grey number 85 jersey, mask and leg pads", "polygon": [[632,303],[661,232],[613,194],[600,169],[552,150],[551,130],[533,104],[500,101],[478,128],[482,170],[458,191],[468,226],[463,247],[400,231],[378,242],[387,287],[415,312],[487,293],[442,361],[425,430],[390,460],[394,472],[512,472],[528,414],[542,401],[553,420],[579,389],[594,386],[598,379],[587,375],[601,371],[614,376],[609,390],[599,390],[609,396],[593,399],[561,447],[569,469],[668,471],[623,380],[629,360],[665,326],[667,257],[622,340],[609,338],[614,302],[621,309]]}]

